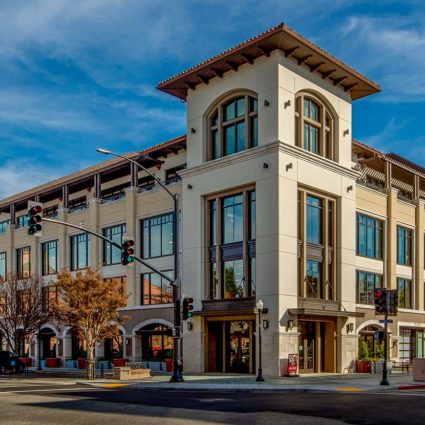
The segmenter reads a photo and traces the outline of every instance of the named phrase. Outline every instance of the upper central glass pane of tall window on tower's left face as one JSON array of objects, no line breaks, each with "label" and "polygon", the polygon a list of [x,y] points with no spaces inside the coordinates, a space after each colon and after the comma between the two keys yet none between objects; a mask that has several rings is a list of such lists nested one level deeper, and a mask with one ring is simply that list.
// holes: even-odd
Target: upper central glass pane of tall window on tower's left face
[{"label": "upper central glass pane of tall window on tower's left face", "polygon": [[223,242],[235,243],[243,240],[243,195],[223,199]]}]

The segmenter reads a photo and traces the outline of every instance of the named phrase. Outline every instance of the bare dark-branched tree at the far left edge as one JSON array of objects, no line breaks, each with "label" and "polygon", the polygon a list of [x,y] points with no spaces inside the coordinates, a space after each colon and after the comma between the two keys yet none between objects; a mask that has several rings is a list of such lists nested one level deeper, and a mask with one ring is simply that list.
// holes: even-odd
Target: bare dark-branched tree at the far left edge
[{"label": "bare dark-branched tree at the far left edge", "polygon": [[0,282],[0,332],[15,356],[20,354],[20,344],[50,319],[46,301],[39,276],[20,279],[10,273]]}]

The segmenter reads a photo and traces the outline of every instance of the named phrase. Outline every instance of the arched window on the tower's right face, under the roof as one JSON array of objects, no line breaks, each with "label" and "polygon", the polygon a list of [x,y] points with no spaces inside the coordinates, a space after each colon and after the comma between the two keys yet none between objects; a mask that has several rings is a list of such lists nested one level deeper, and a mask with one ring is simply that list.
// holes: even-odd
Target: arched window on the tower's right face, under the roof
[{"label": "arched window on the tower's right face, under the roof", "polygon": [[297,96],[295,133],[298,146],[335,160],[334,118],[326,105],[310,93]]}]

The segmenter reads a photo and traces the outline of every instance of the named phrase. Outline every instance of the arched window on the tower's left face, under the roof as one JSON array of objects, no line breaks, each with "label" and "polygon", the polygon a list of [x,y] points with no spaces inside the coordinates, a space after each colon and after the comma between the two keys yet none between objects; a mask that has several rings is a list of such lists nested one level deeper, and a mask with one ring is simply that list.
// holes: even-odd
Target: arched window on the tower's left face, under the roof
[{"label": "arched window on the tower's left face, under the roof", "polygon": [[250,95],[240,95],[221,103],[210,115],[209,135],[209,159],[257,146],[257,99]]}]

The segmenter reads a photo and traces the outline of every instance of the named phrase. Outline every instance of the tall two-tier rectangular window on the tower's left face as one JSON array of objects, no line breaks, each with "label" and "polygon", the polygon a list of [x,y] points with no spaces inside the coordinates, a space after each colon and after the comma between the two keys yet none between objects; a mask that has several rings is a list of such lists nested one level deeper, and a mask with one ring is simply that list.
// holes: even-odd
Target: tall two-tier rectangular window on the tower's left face
[{"label": "tall two-tier rectangular window on the tower's left face", "polygon": [[[255,191],[246,190],[211,199],[208,207],[210,299],[255,295]],[[217,244],[220,250],[218,258]]]}]

